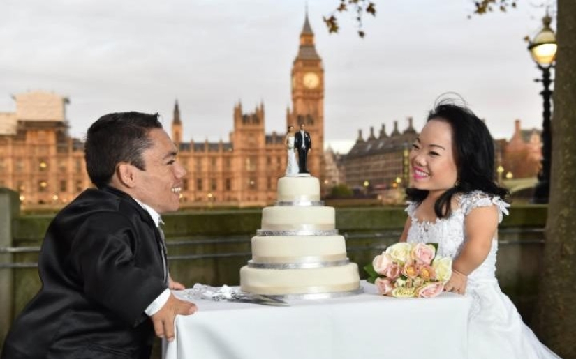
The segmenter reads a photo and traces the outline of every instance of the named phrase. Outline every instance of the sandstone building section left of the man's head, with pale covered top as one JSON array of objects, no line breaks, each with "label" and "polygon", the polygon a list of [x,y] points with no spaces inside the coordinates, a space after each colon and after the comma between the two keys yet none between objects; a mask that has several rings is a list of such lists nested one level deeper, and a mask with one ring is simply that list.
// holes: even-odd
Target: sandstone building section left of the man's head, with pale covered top
[{"label": "sandstone building section left of the man's head, with pale covered top", "polygon": [[22,204],[59,206],[89,187],[84,144],[68,136],[68,98],[48,92],[13,96],[16,112],[0,113],[0,187]]}]

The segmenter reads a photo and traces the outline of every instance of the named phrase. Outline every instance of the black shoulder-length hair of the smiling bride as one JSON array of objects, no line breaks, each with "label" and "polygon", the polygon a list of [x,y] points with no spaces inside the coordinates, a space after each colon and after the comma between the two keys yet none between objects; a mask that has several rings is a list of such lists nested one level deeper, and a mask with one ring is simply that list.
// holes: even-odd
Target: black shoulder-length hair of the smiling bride
[{"label": "black shoulder-length hair of the smiling bride", "polygon": [[[500,187],[494,178],[494,139],[484,121],[478,119],[470,109],[443,100],[432,110],[428,121],[443,121],[452,128],[452,151],[455,153],[457,181],[454,187],[444,192],[434,204],[438,218],[452,213],[452,196],[480,190],[487,194],[508,197],[508,190]],[[422,202],[428,190],[406,188],[408,200]]]}]

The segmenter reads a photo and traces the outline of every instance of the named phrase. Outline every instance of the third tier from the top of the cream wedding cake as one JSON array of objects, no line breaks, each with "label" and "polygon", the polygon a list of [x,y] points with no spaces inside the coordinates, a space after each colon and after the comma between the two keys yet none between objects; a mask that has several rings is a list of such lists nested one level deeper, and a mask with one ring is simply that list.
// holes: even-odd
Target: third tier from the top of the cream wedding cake
[{"label": "third tier from the top of the cream wedding cake", "polygon": [[291,266],[322,266],[346,261],[343,236],[255,236],[252,265],[289,263]]}]

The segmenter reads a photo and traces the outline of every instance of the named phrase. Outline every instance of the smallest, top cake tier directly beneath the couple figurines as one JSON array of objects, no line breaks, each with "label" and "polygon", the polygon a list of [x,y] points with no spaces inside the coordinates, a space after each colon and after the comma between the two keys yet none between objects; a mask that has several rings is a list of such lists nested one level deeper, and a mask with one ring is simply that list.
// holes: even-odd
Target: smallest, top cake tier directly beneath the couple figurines
[{"label": "smallest, top cake tier directly beneath the couple figurines", "polygon": [[312,176],[282,177],[278,180],[278,202],[320,201],[320,181]]}]

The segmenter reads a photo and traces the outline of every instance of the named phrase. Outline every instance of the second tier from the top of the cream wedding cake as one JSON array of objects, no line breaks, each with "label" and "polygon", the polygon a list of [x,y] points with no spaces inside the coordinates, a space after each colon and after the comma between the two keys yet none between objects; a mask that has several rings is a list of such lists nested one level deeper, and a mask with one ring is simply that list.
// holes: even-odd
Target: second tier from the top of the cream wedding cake
[{"label": "second tier from the top of the cream wedding cake", "polygon": [[263,231],[334,230],[334,207],[273,206],[262,211]]}]

